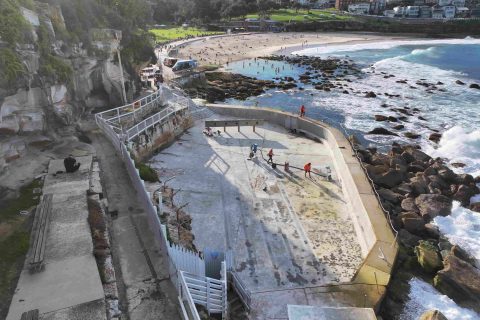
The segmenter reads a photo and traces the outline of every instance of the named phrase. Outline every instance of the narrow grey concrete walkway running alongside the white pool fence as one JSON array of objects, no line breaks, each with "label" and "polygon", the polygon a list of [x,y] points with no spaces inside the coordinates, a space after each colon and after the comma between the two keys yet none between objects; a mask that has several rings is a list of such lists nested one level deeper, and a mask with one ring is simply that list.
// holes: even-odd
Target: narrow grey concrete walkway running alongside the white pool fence
[{"label": "narrow grey concrete walkway running alongside the white pool fence", "polygon": [[100,130],[91,128],[89,136],[100,162],[109,211],[118,213],[110,232],[122,312],[131,320],[180,319],[168,257],[156,246],[127,170]]}]

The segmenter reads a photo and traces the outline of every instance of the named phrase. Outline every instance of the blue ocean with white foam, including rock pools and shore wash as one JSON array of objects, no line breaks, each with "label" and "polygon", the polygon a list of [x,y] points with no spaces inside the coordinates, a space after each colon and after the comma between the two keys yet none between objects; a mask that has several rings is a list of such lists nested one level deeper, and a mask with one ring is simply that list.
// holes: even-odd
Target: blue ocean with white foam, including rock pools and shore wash
[{"label": "blue ocean with white foam, including rock pools and shore wash", "polygon": [[[457,173],[480,175],[480,90],[469,88],[480,84],[480,40],[473,38],[451,40],[386,41],[349,45],[325,45],[296,51],[293,54],[338,57],[352,60],[362,70],[359,78],[351,78],[350,94],[340,89],[331,92],[318,91],[312,85],[299,84],[304,90],[269,90],[246,101],[230,99],[227,103],[247,106],[268,106],[298,113],[304,104],[307,116],[325,121],[346,134],[355,134],[365,145],[385,149],[393,141],[418,143],[432,157],[461,162],[466,166],[452,169]],[[290,76],[298,80],[306,70],[285,62],[262,59],[230,63],[227,70],[272,80]],[[394,77],[385,77],[394,75]],[[398,80],[406,80],[398,83]],[[460,80],[465,85],[457,84]],[[438,84],[444,92],[429,93],[416,83]],[[415,88],[411,88],[413,86]],[[359,93],[353,93],[357,91]],[[365,91],[382,93],[375,99],[364,97]],[[400,95],[390,98],[384,93]],[[382,104],[389,107],[384,108]],[[418,114],[401,122],[404,130],[392,127],[398,122],[378,122],[374,115],[398,117],[390,108],[417,108]],[[368,135],[368,131],[384,127],[399,134],[398,137]],[[420,134],[419,139],[408,139],[405,132]],[[439,131],[438,144],[430,141],[431,133]],[[480,195],[473,201],[480,201]],[[480,214],[454,203],[452,214],[434,221],[452,243],[460,245],[480,261]],[[450,320],[480,319],[477,313],[459,307],[447,296],[420,279],[410,281],[409,301],[400,319],[417,319],[432,308],[442,311]]]}]

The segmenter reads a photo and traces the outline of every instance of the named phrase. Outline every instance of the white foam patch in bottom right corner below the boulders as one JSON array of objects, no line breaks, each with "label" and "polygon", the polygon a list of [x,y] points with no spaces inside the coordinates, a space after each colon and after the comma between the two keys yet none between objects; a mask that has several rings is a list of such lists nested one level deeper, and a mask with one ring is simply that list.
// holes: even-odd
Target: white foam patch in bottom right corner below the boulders
[{"label": "white foam patch in bottom right corner below the boulders", "polygon": [[412,278],[409,285],[409,300],[400,315],[400,320],[418,319],[427,310],[439,310],[449,320],[480,319],[480,315],[472,310],[459,307],[452,299],[420,279]]}]

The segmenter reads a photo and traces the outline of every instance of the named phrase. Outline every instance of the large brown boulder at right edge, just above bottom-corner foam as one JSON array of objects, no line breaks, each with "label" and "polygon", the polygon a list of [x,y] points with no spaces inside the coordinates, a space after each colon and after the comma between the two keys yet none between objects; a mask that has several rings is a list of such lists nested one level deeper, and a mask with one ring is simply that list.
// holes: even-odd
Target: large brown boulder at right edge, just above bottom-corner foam
[{"label": "large brown boulder at right edge, just above bottom-corner foam", "polygon": [[480,270],[468,262],[449,254],[433,284],[457,304],[480,312]]}]

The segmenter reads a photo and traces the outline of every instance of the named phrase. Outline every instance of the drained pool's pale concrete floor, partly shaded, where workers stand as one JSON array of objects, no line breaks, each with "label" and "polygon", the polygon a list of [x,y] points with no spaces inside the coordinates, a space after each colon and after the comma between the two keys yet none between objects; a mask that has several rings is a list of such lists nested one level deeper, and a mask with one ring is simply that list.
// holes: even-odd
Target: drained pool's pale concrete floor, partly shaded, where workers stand
[{"label": "drained pool's pale concrete floor, partly shaded, where workers stand", "polygon": [[[219,118],[219,117],[213,117]],[[212,118],[212,119],[213,119]],[[349,282],[362,258],[328,145],[265,124],[202,134],[203,122],[152,159],[169,186],[188,203],[195,245],[234,252],[235,270],[252,293]],[[219,128],[223,130],[223,128]],[[315,172],[332,170],[333,181],[303,170],[273,170],[250,145],[274,149],[275,162],[288,159]],[[266,187],[266,191],[264,188]]]}]

